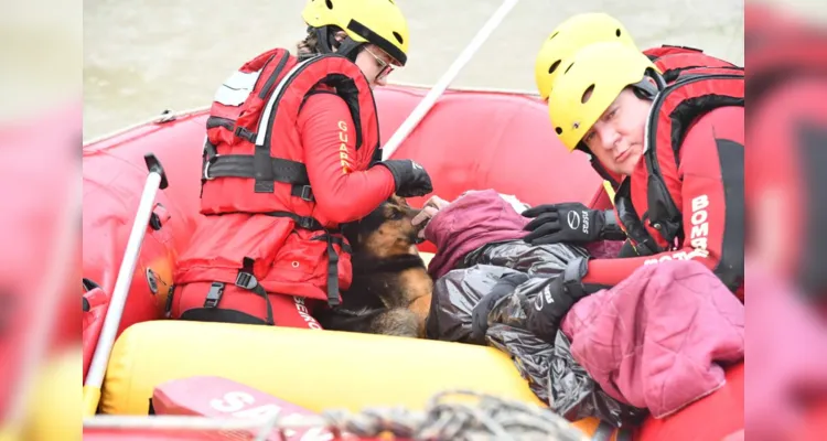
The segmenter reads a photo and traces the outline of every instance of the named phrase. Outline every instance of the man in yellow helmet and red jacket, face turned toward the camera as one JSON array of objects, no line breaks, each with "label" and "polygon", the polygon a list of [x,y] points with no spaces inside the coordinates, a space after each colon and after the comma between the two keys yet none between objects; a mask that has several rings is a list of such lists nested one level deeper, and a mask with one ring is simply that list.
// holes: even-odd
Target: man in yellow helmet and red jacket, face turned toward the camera
[{"label": "man in yellow helmet and red jacket, face turned toward the camera", "polygon": [[[549,96],[552,127],[569,151],[588,152],[622,176],[616,215],[579,203],[540,205],[523,213],[535,217],[526,240],[582,244],[616,224],[641,256],[572,262],[546,301],[528,308],[530,331],[554,342],[577,300],[665,260],[700,261],[740,294],[743,71],[687,69],[667,86],[651,60],[619,42],[590,44],[560,67]],[[484,299],[480,308],[491,304]]]}]

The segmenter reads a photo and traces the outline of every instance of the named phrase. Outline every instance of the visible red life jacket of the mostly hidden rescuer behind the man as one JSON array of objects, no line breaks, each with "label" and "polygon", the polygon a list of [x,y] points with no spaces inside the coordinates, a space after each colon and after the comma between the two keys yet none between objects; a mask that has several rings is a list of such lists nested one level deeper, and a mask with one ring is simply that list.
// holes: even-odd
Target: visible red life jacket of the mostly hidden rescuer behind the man
[{"label": "visible red life jacket of the mostly hidden rescuer behind the man", "polygon": [[[673,46],[664,44],[660,47],[652,47],[643,51],[655,67],[663,74],[664,80],[667,84],[674,83],[678,76],[688,69],[697,69],[702,67],[720,67],[720,68],[733,68],[740,69],[734,64],[717,58],[711,55],[707,55],[699,49],[688,46]],[[620,187],[621,176],[616,173],[605,170],[603,165],[591,155],[591,165],[600,174],[601,178],[609,181],[615,191]]]}]

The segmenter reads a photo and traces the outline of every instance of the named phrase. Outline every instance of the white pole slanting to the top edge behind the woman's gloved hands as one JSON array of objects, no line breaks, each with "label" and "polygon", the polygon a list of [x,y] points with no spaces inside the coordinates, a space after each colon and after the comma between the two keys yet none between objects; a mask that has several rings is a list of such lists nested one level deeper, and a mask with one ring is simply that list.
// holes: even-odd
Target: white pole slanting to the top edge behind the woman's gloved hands
[{"label": "white pole slanting to the top edge behind the woman's gloved hands", "polygon": [[451,85],[451,82],[454,80],[457,75],[459,75],[460,71],[468,64],[469,61],[471,61],[471,57],[474,56],[474,53],[482,46],[483,43],[485,43],[485,40],[491,36],[491,34],[494,32],[494,30],[500,25],[500,23],[505,19],[505,15],[511,12],[511,10],[517,4],[517,1],[519,0],[505,0],[503,1],[503,4],[500,7],[500,9],[494,12],[494,15],[488,19],[488,21],[485,23],[485,25],[482,26],[480,32],[474,35],[474,39],[471,40],[471,43],[465,47],[464,51],[460,54],[460,56],[451,64],[451,67],[448,68],[448,72],[442,75],[441,78],[437,82],[437,84],[433,86],[433,88],[428,93],[428,95],[422,98],[421,101],[419,101],[419,105],[414,109],[414,111],[410,112],[410,116],[399,126],[399,128],[394,132],[394,135],[390,137],[387,143],[382,148],[382,159],[386,160],[390,158],[396,149],[399,148],[399,146],[405,141],[405,139],[408,138],[411,131],[419,125],[419,121],[425,118],[426,114],[433,107],[434,104],[437,104],[437,99],[439,99],[440,96],[445,92],[448,86]]}]

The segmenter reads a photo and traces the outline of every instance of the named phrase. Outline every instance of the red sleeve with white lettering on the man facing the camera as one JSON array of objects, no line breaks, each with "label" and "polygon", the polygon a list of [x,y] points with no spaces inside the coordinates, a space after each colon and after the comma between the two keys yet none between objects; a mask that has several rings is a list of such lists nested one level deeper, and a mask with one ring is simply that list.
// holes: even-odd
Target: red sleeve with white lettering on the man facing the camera
[{"label": "red sleeve with white lettering on the man facing the camera", "polygon": [[594,259],[583,282],[612,287],[643,265],[692,259],[713,270],[731,290],[739,288],[743,279],[743,108],[719,108],[699,119],[680,150],[683,249]]}]

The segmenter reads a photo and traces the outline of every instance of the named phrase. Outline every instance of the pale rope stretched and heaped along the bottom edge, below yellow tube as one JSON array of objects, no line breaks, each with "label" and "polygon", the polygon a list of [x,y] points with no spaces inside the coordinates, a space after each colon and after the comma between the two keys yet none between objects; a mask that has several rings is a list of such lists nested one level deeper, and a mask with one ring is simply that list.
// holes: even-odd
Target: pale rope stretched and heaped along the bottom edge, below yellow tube
[{"label": "pale rope stretched and heaped along the bottom edge, below yellow tube", "polygon": [[[450,399],[453,398],[453,399]],[[402,407],[367,408],[361,412],[326,410],[319,416],[277,416],[256,419],[182,416],[96,416],[84,419],[84,429],[158,429],[196,431],[253,431],[257,441],[287,440],[296,429],[326,430],[337,439],[393,434],[414,440],[554,440],[588,438],[557,413],[538,406],[468,390],[434,395],[425,410]]]}]

